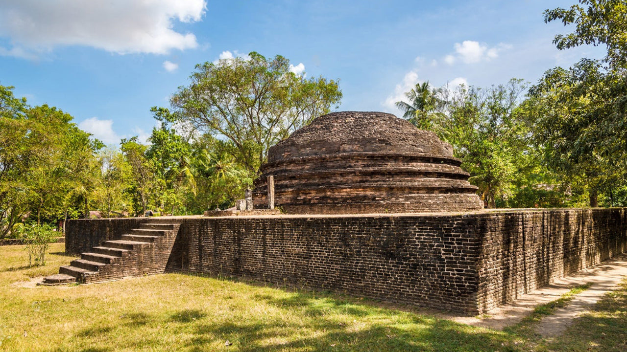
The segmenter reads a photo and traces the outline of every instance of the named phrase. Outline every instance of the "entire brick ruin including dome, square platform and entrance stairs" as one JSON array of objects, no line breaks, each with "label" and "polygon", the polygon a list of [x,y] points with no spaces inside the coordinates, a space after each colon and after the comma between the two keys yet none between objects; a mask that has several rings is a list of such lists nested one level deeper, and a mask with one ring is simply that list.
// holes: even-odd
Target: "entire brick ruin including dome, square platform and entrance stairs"
[{"label": "entire brick ruin including dome, square platform and entrance stairs", "polygon": [[459,166],[394,115],[320,116],[270,148],[252,194],[265,208],[272,176],[300,215],[247,195],[240,216],[69,220],[82,258],[46,281],[204,272],[482,314],[627,251],[627,209],[478,210]]}]

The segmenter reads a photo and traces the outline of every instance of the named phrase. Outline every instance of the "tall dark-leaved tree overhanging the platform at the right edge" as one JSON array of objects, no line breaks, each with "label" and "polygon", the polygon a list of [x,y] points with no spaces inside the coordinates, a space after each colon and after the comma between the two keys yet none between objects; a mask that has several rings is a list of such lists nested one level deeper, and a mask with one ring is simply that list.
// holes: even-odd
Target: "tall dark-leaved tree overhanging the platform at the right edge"
[{"label": "tall dark-leaved tree overhanging the platform at the right edge", "polygon": [[547,71],[530,91],[545,106],[535,136],[545,160],[575,189],[585,190],[591,207],[615,203],[627,185],[627,5],[616,0],[581,0],[569,9],[545,11],[545,22],[576,24],[554,39],[558,49],[604,44],[601,60],[583,58],[571,68]]}]

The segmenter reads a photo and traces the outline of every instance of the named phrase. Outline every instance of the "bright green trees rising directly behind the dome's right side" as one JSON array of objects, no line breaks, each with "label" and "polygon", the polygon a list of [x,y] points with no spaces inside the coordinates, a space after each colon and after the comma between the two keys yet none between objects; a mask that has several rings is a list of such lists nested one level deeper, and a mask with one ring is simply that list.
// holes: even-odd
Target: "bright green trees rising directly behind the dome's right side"
[{"label": "bright green trees rising directly behind the dome's right side", "polygon": [[406,117],[453,145],[462,168],[470,172],[470,182],[491,208],[497,201],[503,205],[515,185],[524,183],[521,171],[531,168],[529,131],[519,111],[526,87],[521,80],[511,80],[487,90],[460,86],[450,91],[431,90],[424,83],[406,94],[416,97],[416,110]]}]

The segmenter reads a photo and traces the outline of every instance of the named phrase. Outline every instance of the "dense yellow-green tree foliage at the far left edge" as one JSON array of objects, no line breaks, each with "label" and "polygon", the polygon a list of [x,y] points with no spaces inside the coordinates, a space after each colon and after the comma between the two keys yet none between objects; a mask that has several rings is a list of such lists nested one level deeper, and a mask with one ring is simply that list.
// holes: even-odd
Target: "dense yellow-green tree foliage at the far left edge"
[{"label": "dense yellow-green tree foliage at the far left edge", "polygon": [[91,140],[67,113],[31,107],[0,86],[0,238],[31,217],[38,223],[66,219],[88,202],[94,187]]}]

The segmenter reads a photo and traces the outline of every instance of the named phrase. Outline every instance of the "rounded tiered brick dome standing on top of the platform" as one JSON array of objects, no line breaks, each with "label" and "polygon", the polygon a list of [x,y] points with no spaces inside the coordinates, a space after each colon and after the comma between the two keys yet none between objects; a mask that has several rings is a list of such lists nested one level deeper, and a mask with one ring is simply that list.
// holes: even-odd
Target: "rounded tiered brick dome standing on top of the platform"
[{"label": "rounded tiered brick dome standing on top of the platform", "polygon": [[316,118],[268,152],[255,181],[255,208],[288,214],[469,211],[483,208],[477,187],[433,132],[379,112],[345,111]]}]

